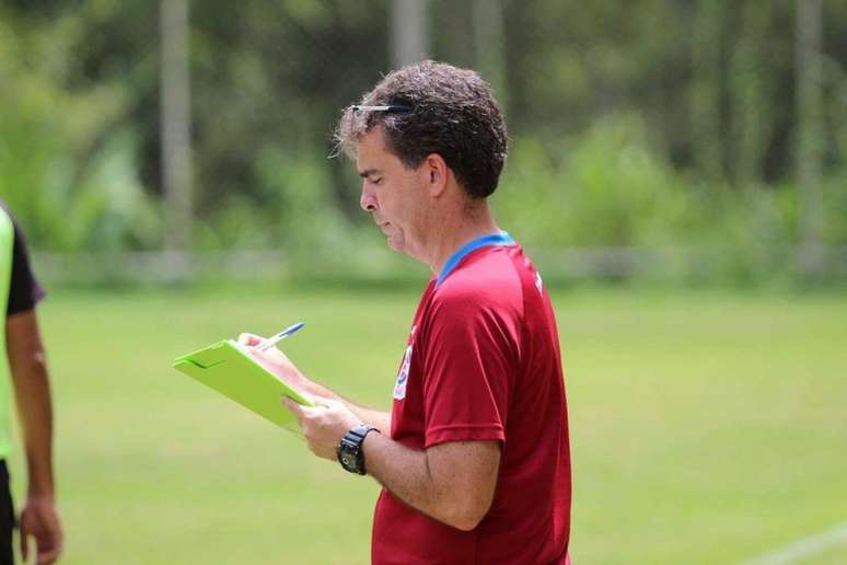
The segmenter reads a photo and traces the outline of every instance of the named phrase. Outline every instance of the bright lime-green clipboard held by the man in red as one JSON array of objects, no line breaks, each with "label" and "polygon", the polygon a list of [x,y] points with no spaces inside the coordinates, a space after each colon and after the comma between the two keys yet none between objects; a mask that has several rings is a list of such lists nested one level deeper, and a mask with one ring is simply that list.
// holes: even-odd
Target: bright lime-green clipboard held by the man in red
[{"label": "bright lime-green clipboard held by the man in red", "polygon": [[300,434],[297,418],[282,396],[314,406],[308,394],[293,389],[254,359],[233,339],[224,339],[174,359],[174,369],[220,392],[268,422]]}]

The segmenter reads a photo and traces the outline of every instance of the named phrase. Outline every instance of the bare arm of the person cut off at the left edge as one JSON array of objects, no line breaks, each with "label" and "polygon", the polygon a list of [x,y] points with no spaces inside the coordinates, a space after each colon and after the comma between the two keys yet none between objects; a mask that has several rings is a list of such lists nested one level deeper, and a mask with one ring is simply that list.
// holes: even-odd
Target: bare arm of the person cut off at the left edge
[{"label": "bare arm of the person cut off at the left edge", "polygon": [[7,319],[7,355],[24,440],[28,488],[21,514],[21,553],[35,538],[37,563],[54,563],[62,547],[53,473],[53,406],[35,310]]}]

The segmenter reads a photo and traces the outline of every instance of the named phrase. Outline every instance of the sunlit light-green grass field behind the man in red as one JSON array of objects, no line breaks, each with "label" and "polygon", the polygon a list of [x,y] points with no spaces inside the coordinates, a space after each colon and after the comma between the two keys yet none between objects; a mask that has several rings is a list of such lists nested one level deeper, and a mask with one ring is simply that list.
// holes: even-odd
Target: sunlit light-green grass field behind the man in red
[{"label": "sunlit light-green grass field behind the man in red", "polygon": [[[171,369],[241,331],[387,407],[414,292],[62,292],[40,308],[67,564],[363,564],[378,487]],[[577,564],[738,563],[847,520],[847,298],[556,292]],[[21,460],[12,465],[21,493]],[[847,546],[803,563],[845,563]]]}]

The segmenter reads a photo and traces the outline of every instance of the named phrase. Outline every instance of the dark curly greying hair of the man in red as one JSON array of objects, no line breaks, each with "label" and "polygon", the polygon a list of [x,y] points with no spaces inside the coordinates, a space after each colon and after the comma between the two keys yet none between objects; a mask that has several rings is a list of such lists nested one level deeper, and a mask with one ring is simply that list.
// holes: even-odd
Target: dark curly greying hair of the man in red
[{"label": "dark curly greying hair of the man in red", "polygon": [[438,153],[471,197],[485,198],[497,188],[506,123],[490,85],[475,71],[426,60],[391,72],[359,105],[344,111],[335,135],[339,152],[355,158],[359,138],[376,126],[407,168]]}]

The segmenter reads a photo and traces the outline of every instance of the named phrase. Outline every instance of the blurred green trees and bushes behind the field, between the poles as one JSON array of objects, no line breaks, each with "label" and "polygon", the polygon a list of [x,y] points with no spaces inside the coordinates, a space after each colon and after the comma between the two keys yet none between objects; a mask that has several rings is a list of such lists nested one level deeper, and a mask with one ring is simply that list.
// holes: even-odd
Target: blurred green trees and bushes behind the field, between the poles
[{"label": "blurred green trees and bushes behind the field, between the poles", "polygon": [[[631,278],[797,275],[791,2],[477,4],[433,0],[431,46],[498,88],[513,137],[503,227],[554,254],[658,257]],[[34,246],[161,249],[158,16],[138,0],[0,7],[0,197]],[[391,66],[390,20],[378,0],[192,4],[196,251],[279,250],[320,276],[408,267],[325,158],[339,108]],[[826,3],[823,23],[823,243],[837,256],[847,10]]]}]

